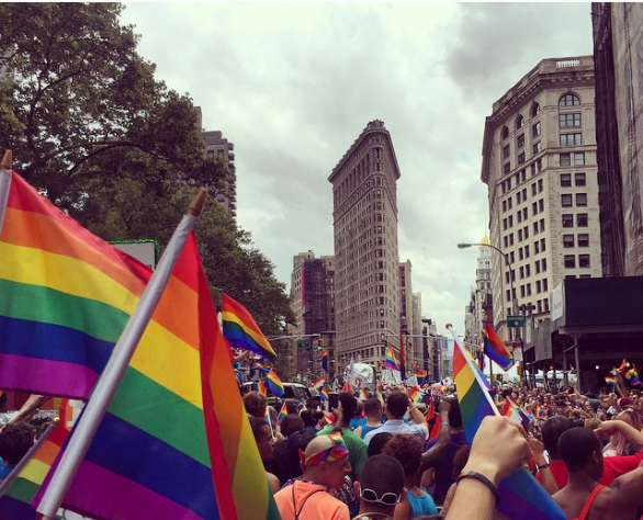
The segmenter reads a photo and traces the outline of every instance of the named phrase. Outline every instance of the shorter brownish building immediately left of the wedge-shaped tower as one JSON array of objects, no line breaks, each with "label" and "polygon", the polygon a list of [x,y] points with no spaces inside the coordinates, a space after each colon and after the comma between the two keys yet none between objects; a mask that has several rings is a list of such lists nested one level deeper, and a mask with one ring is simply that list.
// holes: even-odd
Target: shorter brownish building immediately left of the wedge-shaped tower
[{"label": "shorter brownish building immediately left of the wedge-shaped tower", "polygon": [[[329,381],[335,376],[335,259],[315,258],[313,251],[293,258],[291,307],[296,326],[290,334],[298,336],[292,353],[291,369],[311,383],[322,375],[322,347],[328,353]],[[306,343],[307,342],[307,343]],[[301,346],[308,344],[308,348]]]}]

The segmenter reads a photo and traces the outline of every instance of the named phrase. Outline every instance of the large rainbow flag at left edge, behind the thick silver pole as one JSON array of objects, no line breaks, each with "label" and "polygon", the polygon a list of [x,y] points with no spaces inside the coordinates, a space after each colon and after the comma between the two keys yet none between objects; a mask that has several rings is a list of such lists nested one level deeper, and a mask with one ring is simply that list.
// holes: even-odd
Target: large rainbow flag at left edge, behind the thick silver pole
[{"label": "large rainbow flag at left edge, behind the thick silver pole", "polygon": [[87,399],[151,271],[4,176],[0,387]]}]

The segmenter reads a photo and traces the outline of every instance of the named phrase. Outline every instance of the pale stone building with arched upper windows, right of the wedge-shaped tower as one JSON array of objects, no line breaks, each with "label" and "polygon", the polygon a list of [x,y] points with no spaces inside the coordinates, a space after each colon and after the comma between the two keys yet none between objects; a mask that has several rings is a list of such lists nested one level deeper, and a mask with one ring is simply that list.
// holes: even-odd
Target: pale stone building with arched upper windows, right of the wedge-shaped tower
[{"label": "pale stone building with arched upper windows, right of the wedge-shaped tower", "polygon": [[[543,59],[493,105],[482,181],[488,186],[494,321],[549,317],[565,278],[601,276],[591,56]],[[505,261],[507,260],[507,261]]]}]

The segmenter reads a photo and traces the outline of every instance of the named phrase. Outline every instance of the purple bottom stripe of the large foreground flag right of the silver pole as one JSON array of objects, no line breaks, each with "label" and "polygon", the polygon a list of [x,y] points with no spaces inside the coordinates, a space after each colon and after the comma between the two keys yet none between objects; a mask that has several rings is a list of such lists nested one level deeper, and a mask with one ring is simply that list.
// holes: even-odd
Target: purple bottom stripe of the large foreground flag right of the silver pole
[{"label": "purple bottom stripe of the large foreground flag right of the silver pole", "polygon": [[[127,456],[123,453],[123,456]],[[171,481],[176,478],[174,475],[166,475]],[[203,520],[203,517],[196,515],[194,511],[169,500],[167,497],[154,493],[149,488],[140,484],[124,478],[103,467],[92,464],[89,461],[83,461],[80,470],[76,476],[77,482],[82,482],[83,485],[75,490],[71,486],[63,507],[67,504],[74,504],[74,509],[84,516],[92,518],[154,518],[155,520]],[[110,489],[109,494],[91,494],[88,495],[83,489]],[[117,502],[114,502],[113,497],[119,497]],[[99,515],[97,515],[99,511]]]}]

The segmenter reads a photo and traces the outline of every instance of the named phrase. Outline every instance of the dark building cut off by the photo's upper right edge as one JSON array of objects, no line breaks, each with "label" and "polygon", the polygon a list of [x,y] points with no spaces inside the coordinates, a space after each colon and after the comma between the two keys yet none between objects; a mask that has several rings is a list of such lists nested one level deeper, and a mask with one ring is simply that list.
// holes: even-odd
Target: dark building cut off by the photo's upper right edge
[{"label": "dark building cut off by the photo's upper right edge", "polygon": [[591,19],[603,273],[641,275],[643,4],[594,2]]}]

